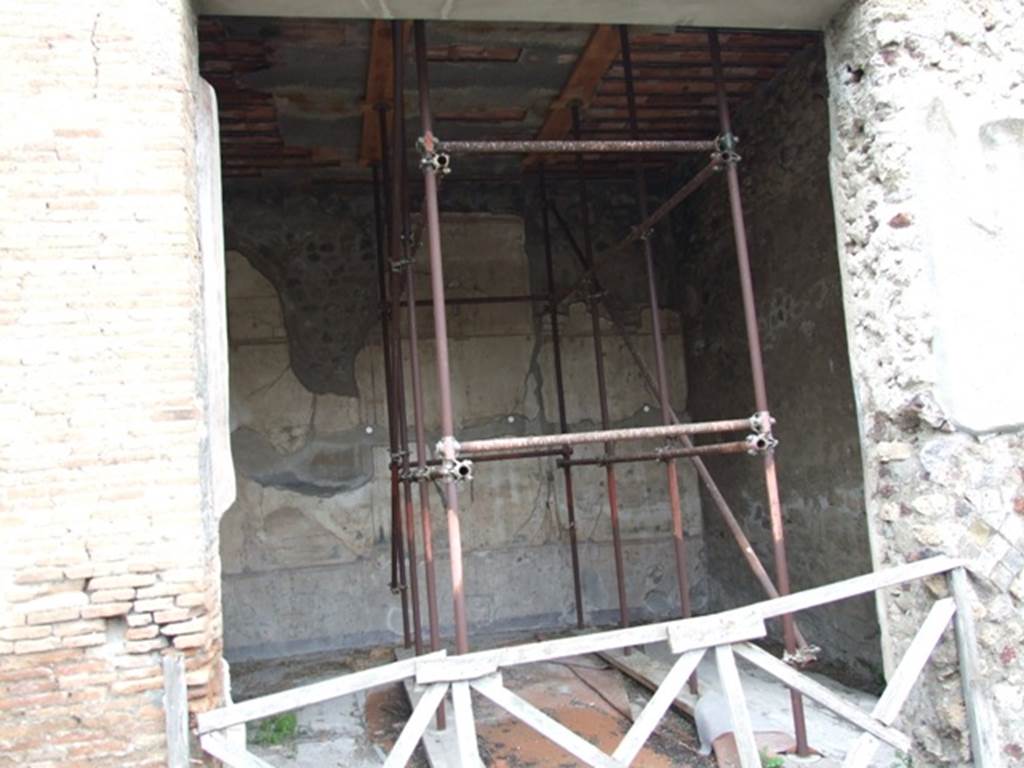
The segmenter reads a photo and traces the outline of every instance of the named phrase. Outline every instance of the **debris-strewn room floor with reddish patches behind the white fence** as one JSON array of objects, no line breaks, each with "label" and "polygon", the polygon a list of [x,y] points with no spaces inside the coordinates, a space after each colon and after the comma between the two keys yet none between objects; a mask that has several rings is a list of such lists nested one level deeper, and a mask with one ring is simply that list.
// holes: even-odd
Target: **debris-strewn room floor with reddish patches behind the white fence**
[{"label": "debris-strewn room floor with reddish patches behind the white fence", "polygon": [[[482,645],[506,645],[536,638],[496,636]],[[478,641],[479,642],[479,641]],[[653,646],[646,653],[620,662],[643,668],[646,676],[658,680],[659,670],[669,667],[667,649]],[[397,649],[398,655],[407,652]],[[323,652],[282,659],[236,663],[231,666],[232,693],[237,701],[289,687],[316,682],[392,660],[396,649],[377,647],[370,650]],[[768,751],[784,749],[788,741],[788,694],[786,689],[766,675],[740,667],[759,740]],[[660,673],[660,674],[664,674]],[[699,669],[701,690],[717,689],[714,664],[706,659]],[[629,729],[648,700],[649,691],[623,675],[597,655],[575,656],[558,662],[514,667],[503,673],[505,685],[607,753]],[[845,688],[824,677],[817,678],[834,691],[869,711],[874,702],[870,694]],[[415,693],[412,693],[415,695]],[[681,695],[681,699],[687,696]],[[578,765],[578,761],[536,733],[522,722],[474,694],[480,756],[487,766],[520,768],[525,766]],[[858,735],[855,727],[839,720],[823,708],[808,702],[808,725],[812,746],[822,756],[810,760],[786,758],[786,765],[839,765],[846,750]],[[295,713],[293,724],[274,731],[274,723],[253,724],[249,728],[250,749],[254,754],[280,768],[344,766],[377,768],[384,762],[402,725],[411,713],[409,695],[400,684],[376,688]],[[774,734],[774,735],[773,735]],[[444,737],[432,734],[430,754],[421,744],[410,765],[416,768],[442,768],[446,763]],[[731,766],[734,756],[731,737],[719,739],[715,746],[717,761],[698,754],[695,728],[688,718],[670,710],[663,718],[644,751],[633,763],[640,768],[669,766]],[[879,765],[898,765],[897,756],[880,752]]]}]

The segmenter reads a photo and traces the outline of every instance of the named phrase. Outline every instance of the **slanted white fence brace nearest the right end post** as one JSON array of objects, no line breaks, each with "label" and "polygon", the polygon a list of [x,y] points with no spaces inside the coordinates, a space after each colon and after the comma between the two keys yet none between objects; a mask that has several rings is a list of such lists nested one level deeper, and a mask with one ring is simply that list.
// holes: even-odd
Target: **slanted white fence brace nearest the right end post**
[{"label": "slanted white fence brace nearest the right end post", "polygon": [[[951,597],[937,601],[928,612],[925,623],[921,626],[910,647],[906,649],[903,658],[893,673],[892,679],[879,698],[879,703],[871,716],[886,725],[892,725],[902,709],[914,683],[921,677],[922,670],[928,664],[932,651],[942,639],[942,633],[949,626],[949,620],[956,612],[956,603]],[[857,743],[847,753],[843,768],[868,768],[874,753],[879,749],[879,740],[869,733],[862,733]]]}]

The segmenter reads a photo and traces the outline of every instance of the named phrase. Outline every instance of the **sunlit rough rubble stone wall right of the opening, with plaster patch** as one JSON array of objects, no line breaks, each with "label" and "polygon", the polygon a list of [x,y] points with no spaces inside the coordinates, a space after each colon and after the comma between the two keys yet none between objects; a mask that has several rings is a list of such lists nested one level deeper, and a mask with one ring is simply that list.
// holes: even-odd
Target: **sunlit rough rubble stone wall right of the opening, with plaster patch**
[{"label": "sunlit rough rubble stone wall right of the opening, with plaster patch", "polygon": [[[874,562],[971,559],[984,699],[1009,765],[1024,761],[1022,24],[1019,2],[866,0],[827,36]],[[942,594],[937,582],[882,596],[890,670]],[[968,762],[954,653],[947,638],[908,706],[915,765]]]}]

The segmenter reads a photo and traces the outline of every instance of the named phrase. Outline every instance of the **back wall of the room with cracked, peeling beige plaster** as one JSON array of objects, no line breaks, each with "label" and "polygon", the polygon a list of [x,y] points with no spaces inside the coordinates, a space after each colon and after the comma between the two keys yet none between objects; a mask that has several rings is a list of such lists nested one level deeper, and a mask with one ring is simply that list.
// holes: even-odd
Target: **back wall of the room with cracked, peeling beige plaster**
[{"label": "back wall of the room with cracked, peeling beige plaster", "polygon": [[[572,220],[571,189],[564,191],[565,215]],[[532,206],[535,201],[524,201],[521,189],[510,191],[507,185],[481,193],[456,183],[444,194],[442,210],[463,211],[445,213],[442,222],[450,296],[546,290],[538,283],[543,280],[543,266],[536,268],[537,259],[543,258],[537,219],[531,217],[530,225],[524,227],[521,213],[523,205]],[[383,357],[376,301],[368,298],[376,289],[376,278],[370,271],[373,262],[364,262],[374,253],[373,241],[367,240],[368,232],[373,232],[372,206],[352,190],[309,195],[325,196],[314,209],[344,210],[348,218],[335,228],[317,231],[306,218],[291,218],[291,208],[273,216],[269,209],[252,207],[249,194],[232,197],[229,190],[226,200],[229,246],[240,248],[228,260],[239,500],[221,528],[225,636],[233,656],[394,642],[400,636],[399,603],[387,589],[390,488]],[[246,229],[244,222],[252,213],[264,219]],[[600,242],[609,240],[611,231],[620,237],[626,231],[614,217],[605,219],[596,227]],[[239,227],[244,233],[236,238]],[[270,230],[272,237],[264,234]],[[340,230],[349,234],[336,238],[334,232]],[[337,247],[310,249],[296,242],[303,237],[316,242],[331,239]],[[290,242],[295,248],[282,253],[282,244]],[[578,278],[574,257],[564,240],[555,246],[559,286],[567,286]],[[260,253],[250,256],[254,249]],[[314,251],[323,260],[309,261],[308,254]],[[296,259],[300,263],[295,264]],[[287,266],[268,268],[271,260],[287,262]],[[366,274],[356,273],[358,269]],[[418,255],[416,270],[420,298],[428,298],[425,253]],[[293,274],[296,283],[313,285],[317,275],[343,271],[351,280],[339,279],[331,290],[324,289],[309,317],[299,310],[289,318],[290,279],[283,275]],[[334,315],[338,319],[325,327],[323,318]],[[634,311],[630,322],[634,343],[649,357],[649,318]],[[675,406],[682,413],[685,388],[678,316],[667,313],[665,323],[670,329],[668,347],[674,353],[674,391],[681,395]],[[452,306],[449,324],[458,436],[557,430],[553,353],[544,317],[524,304]],[[610,326],[604,326],[613,423],[655,423],[656,409],[632,359]],[[420,310],[419,327],[427,436],[433,445],[439,426],[428,307]],[[566,306],[561,330],[568,420],[572,429],[594,428],[598,406],[593,347],[589,315],[582,303]],[[337,381],[347,382],[337,388],[340,394],[307,388],[299,369],[302,358],[294,349],[290,351],[299,336],[329,348],[326,334],[333,336],[339,349],[349,350],[345,355],[350,371],[336,372]],[[689,520],[694,603],[702,607],[699,502],[689,469],[680,471]],[[628,587],[635,615],[672,615],[678,597],[664,470],[658,465],[630,465],[620,476]],[[574,477],[588,620],[613,621],[614,570],[603,469],[581,468]],[[480,464],[461,499],[467,604],[474,630],[571,623],[563,485],[554,462]],[[447,627],[446,531],[433,493],[432,500],[439,607]]]}]

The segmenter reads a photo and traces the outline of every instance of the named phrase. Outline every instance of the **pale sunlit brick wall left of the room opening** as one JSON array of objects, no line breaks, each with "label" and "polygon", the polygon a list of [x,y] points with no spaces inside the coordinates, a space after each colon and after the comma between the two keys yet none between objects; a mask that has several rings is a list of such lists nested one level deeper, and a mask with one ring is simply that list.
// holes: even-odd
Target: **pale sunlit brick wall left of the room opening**
[{"label": "pale sunlit brick wall left of the room opening", "polygon": [[219,696],[186,0],[0,30],[0,766],[162,765]]}]

